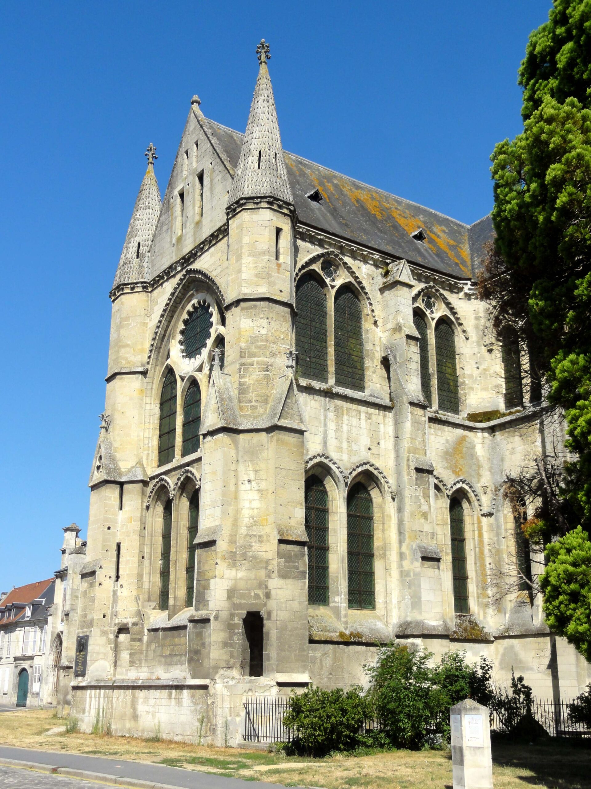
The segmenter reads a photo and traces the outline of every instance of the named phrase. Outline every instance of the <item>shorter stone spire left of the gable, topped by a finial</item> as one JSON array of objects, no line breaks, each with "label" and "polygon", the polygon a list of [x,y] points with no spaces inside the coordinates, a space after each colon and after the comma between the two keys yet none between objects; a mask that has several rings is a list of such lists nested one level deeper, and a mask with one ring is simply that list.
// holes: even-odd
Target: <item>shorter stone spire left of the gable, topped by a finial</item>
[{"label": "shorter stone spire left of the gable, topped by a finial", "polygon": [[148,168],[139,187],[132,221],[129,222],[123,252],[117,266],[113,288],[122,282],[140,282],[147,279],[147,260],[162,201],[158,181],[154,175],[154,159],[158,159],[156,148],[150,144],[145,153]]}]

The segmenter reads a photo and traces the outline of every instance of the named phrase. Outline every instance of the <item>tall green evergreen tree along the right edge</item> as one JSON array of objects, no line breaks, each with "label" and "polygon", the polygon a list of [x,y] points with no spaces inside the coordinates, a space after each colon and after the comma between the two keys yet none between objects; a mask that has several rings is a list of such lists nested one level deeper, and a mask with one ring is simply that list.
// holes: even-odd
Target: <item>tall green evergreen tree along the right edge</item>
[{"label": "tall green evergreen tree along the right edge", "polygon": [[[530,36],[519,84],[523,132],[491,157],[496,241],[480,290],[499,308],[497,327],[519,328],[566,416],[574,460],[562,508],[546,507],[537,522],[549,542],[591,525],[591,0],[554,0]],[[587,533],[576,539],[575,552],[548,546],[541,586],[548,625],[591,657],[589,634],[575,632],[591,621],[591,599],[567,571],[591,567],[591,551],[581,545]]]}]

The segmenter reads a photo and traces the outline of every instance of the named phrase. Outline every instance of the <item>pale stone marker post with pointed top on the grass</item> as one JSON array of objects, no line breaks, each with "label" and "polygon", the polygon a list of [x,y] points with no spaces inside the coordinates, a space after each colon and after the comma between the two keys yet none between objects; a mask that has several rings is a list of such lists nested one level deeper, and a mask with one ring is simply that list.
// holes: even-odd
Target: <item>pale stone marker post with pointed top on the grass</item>
[{"label": "pale stone marker post with pointed top on the grass", "polygon": [[489,709],[466,698],[449,710],[454,789],[492,789]]}]

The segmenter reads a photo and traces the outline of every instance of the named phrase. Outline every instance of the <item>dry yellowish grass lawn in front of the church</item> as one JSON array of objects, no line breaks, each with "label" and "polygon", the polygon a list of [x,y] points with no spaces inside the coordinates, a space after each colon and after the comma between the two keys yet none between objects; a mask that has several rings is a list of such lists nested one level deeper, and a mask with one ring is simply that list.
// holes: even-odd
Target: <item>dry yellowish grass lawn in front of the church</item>
[{"label": "dry yellowish grass lawn in front of the church", "polygon": [[[154,761],[246,780],[325,789],[451,789],[448,751],[373,753],[325,759],[285,757],[233,748],[188,745],[109,735],[66,734],[65,721],[51,710],[25,709],[0,714],[0,744]],[[495,789],[591,789],[591,748],[565,742],[492,748]]]}]

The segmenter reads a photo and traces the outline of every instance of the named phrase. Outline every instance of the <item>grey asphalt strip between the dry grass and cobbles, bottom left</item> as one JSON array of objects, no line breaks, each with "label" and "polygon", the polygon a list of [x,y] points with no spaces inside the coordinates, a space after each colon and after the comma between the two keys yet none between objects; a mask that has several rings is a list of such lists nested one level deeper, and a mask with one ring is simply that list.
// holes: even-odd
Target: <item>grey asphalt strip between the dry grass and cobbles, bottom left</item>
[{"label": "grey asphalt strip between the dry grass and cobbles, bottom left", "polygon": [[[101,756],[85,756],[82,753],[53,753],[46,750],[0,746],[0,758],[18,759],[19,761],[35,762],[38,765],[68,767],[75,770],[87,770],[88,772],[101,772],[105,775],[118,776],[119,778],[133,778],[152,781],[153,783],[164,783],[168,786],[178,787],[178,789],[277,789],[276,783],[248,781],[246,784],[240,778],[224,778],[223,776],[209,775],[206,772],[184,770],[178,767],[151,765],[142,761],[125,761],[125,759],[106,759]],[[26,773],[27,778],[28,776],[39,775],[39,773],[25,770],[20,772]],[[51,777],[47,776],[47,780]],[[23,787],[23,789],[28,789],[29,786],[28,783],[16,783],[14,785]],[[31,784],[31,786],[33,785]],[[75,786],[76,789],[78,787],[78,784],[64,784],[64,786],[66,785]],[[89,782],[86,780],[80,783],[80,787],[86,787],[86,789],[89,785]],[[39,784],[39,786],[43,786],[43,789],[45,789],[45,786],[50,787],[51,784]],[[2,780],[0,780],[0,787],[4,789]]]}]

